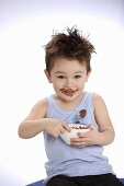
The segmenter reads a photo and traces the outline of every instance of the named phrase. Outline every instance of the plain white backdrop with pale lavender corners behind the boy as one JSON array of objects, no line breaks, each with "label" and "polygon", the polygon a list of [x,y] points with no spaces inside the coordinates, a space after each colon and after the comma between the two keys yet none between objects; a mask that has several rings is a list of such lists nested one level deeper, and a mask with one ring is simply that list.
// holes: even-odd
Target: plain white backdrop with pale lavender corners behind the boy
[{"label": "plain white backdrop with pale lavender corners behind the boy", "polygon": [[24,186],[46,176],[42,133],[24,140],[19,124],[32,106],[53,93],[43,72],[43,46],[53,30],[77,25],[94,44],[86,86],[104,98],[116,138],[105,147],[114,172],[124,177],[124,1],[0,1],[0,185]]}]

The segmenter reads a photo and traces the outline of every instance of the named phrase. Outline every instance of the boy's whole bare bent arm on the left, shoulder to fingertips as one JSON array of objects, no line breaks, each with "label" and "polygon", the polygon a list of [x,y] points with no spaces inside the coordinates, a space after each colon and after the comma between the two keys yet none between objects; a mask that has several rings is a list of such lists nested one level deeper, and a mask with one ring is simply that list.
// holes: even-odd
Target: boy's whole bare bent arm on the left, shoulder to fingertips
[{"label": "boy's whole bare bent arm on the left, shoulder to fingertips", "polygon": [[70,128],[63,120],[45,118],[46,112],[47,102],[45,100],[35,104],[30,115],[20,124],[19,136],[27,139],[46,131],[54,137],[58,137],[65,130],[70,131]]}]

